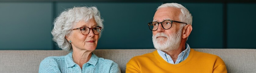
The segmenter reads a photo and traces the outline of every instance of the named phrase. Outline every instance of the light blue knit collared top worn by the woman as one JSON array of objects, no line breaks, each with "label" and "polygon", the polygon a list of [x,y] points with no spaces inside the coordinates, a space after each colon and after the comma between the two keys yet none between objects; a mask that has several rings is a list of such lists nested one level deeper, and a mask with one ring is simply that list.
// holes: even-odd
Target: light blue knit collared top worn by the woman
[{"label": "light blue knit collared top worn by the woman", "polygon": [[46,57],[40,63],[39,73],[121,73],[117,63],[97,57],[93,53],[91,59],[81,69],[73,61],[72,53],[66,56]]}]

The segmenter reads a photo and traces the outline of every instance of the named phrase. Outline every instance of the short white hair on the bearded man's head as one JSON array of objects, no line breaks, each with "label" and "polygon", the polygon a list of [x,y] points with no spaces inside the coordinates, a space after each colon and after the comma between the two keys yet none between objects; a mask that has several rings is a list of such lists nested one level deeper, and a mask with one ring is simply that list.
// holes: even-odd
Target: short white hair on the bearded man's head
[{"label": "short white hair on the bearded man's head", "polygon": [[192,25],[191,13],[184,6],[182,6],[178,3],[165,3],[165,4],[160,5],[157,8],[157,10],[160,9],[160,8],[164,8],[164,7],[173,7],[173,8],[180,9],[180,11],[181,11],[181,14],[179,15],[180,22],[184,22],[184,23]]}]

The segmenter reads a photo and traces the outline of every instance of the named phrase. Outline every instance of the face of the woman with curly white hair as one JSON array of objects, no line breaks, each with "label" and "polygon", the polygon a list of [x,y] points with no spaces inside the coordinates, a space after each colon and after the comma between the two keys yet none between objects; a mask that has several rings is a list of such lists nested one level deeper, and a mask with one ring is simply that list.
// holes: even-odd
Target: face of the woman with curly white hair
[{"label": "face of the woman with curly white hair", "polygon": [[[90,19],[88,22],[80,21],[78,22],[73,29],[87,26],[92,28],[97,26],[97,23],[94,19]],[[95,35],[92,30],[90,30],[89,34],[83,35],[80,29],[72,30],[67,40],[71,40],[71,45],[73,49],[80,50],[88,50],[93,51],[97,47],[97,43],[99,40],[99,35]]]}]

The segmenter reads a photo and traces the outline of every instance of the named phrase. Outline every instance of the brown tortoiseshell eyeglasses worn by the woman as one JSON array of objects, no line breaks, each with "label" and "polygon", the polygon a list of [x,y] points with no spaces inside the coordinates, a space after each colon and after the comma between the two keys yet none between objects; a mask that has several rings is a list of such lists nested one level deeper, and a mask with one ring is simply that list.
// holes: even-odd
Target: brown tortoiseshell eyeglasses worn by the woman
[{"label": "brown tortoiseshell eyeglasses worn by the woman", "polygon": [[95,26],[95,27],[92,27],[92,28],[89,28],[89,27],[84,26],[84,27],[80,27],[80,28],[73,29],[73,30],[80,29],[80,31],[81,31],[81,33],[82,33],[83,35],[87,35],[87,34],[90,33],[90,30],[92,29],[92,32],[93,32],[94,34],[98,35],[98,34],[100,33],[100,31],[101,31],[101,28],[102,28],[102,27],[100,27],[100,26]]}]

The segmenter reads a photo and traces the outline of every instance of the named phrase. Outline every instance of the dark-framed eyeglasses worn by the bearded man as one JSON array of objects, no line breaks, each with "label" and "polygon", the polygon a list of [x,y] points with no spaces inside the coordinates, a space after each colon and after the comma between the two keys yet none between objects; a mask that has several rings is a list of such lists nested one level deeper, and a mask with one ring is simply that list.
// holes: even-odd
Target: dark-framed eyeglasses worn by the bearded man
[{"label": "dark-framed eyeglasses worn by the bearded man", "polygon": [[[148,26],[149,26],[150,30],[155,31],[158,29],[158,25],[162,24],[162,27],[165,30],[168,30],[171,28],[173,22],[183,23],[183,22],[178,22],[178,21],[174,21],[174,20],[164,20],[163,22],[150,22],[150,23],[148,23]],[[185,24],[187,25],[187,23],[185,23]]]}]

